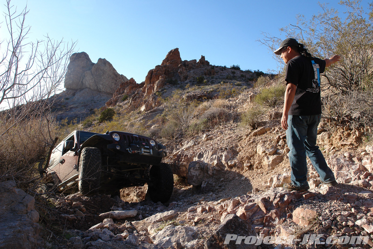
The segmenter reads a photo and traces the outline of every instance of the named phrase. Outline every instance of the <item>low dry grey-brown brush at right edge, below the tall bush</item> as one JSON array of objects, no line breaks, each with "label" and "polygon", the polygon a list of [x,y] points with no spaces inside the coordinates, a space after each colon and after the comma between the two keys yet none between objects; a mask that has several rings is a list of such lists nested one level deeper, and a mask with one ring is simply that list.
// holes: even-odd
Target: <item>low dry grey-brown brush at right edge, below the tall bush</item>
[{"label": "low dry grey-brown brush at right edge, below the tall bush", "polygon": [[322,98],[322,113],[336,124],[373,126],[373,93],[351,91],[345,95],[330,94]]}]

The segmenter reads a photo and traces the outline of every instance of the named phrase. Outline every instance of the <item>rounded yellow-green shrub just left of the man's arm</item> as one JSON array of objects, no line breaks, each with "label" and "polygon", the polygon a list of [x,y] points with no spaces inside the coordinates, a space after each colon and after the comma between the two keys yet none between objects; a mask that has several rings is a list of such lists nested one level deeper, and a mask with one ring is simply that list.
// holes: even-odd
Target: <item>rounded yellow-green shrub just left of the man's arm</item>
[{"label": "rounded yellow-green shrub just left of the man's arm", "polygon": [[276,107],[284,101],[285,85],[263,88],[254,98],[254,102],[266,107]]}]

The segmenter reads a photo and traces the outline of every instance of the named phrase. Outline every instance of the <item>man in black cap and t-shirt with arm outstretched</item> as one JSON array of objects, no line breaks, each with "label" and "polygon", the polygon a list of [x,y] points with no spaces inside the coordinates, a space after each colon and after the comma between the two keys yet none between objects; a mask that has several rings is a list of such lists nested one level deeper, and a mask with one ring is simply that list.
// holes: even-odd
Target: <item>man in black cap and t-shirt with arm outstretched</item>
[{"label": "man in black cap and t-shirt with arm outstretched", "polygon": [[319,173],[321,183],[335,186],[333,171],[316,145],[316,137],[321,118],[320,74],[325,67],[341,60],[341,56],[334,55],[324,60],[312,57],[304,45],[293,38],[284,40],[273,53],[280,55],[287,66],[281,126],[286,130],[290,148],[292,182],[284,184],[284,189],[305,191],[310,188],[306,155]]}]

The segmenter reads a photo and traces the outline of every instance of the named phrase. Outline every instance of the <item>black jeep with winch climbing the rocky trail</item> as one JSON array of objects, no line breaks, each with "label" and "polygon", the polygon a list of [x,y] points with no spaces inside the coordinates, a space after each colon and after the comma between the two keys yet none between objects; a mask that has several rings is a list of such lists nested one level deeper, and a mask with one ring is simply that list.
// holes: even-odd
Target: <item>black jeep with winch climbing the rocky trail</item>
[{"label": "black jeep with winch climbing the rocky trail", "polygon": [[47,175],[59,191],[76,187],[82,194],[118,194],[148,184],[154,202],[167,202],[174,181],[171,167],[161,163],[165,146],[154,139],[126,133],[74,131],[52,151]]}]

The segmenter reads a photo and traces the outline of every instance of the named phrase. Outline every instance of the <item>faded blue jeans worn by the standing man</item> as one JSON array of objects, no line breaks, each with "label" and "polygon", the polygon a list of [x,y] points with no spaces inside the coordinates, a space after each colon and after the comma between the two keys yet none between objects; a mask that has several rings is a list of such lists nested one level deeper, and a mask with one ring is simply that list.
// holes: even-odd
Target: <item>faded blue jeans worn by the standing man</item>
[{"label": "faded blue jeans worn by the standing man", "polygon": [[310,116],[288,116],[288,130],[286,140],[289,151],[289,161],[292,168],[291,180],[293,185],[306,187],[307,183],[307,158],[320,175],[323,183],[335,180],[333,171],[327,166],[319,146],[316,145],[317,130],[321,114]]}]

